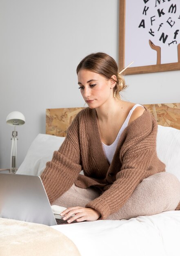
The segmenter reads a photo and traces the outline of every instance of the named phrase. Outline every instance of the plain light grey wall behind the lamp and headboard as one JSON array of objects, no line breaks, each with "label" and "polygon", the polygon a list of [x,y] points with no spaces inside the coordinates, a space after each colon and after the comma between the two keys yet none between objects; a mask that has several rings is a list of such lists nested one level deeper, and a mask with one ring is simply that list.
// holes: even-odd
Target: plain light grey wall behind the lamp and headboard
[{"label": "plain light grey wall behind the lamp and headboard", "polygon": [[[46,108],[82,107],[76,67],[92,52],[118,62],[118,0],[0,1],[0,168],[9,168],[11,134],[6,124],[20,111],[18,166],[38,135]],[[180,102],[180,71],[129,75],[124,100]]]}]

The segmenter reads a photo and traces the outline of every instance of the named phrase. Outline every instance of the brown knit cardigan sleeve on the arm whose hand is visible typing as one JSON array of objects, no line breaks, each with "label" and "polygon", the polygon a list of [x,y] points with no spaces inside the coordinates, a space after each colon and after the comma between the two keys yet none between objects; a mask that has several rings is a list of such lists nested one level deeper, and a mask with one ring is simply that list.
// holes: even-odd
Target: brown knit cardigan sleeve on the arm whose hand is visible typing
[{"label": "brown knit cardigan sleeve on the arm whose hand is visible typing", "polygon": [[151,175],[151,165],[156,154],[155,121],[151,121],[150,126],[138,124],[138,121],[131,126],[131,130],[128,131],[129,136],[127,135],[120,150],[122,167],[116,174],[116,180],[102,195],[86,204],[86,207],[100,212],[99,220],[106,219],[120,209],[136,186]]}]

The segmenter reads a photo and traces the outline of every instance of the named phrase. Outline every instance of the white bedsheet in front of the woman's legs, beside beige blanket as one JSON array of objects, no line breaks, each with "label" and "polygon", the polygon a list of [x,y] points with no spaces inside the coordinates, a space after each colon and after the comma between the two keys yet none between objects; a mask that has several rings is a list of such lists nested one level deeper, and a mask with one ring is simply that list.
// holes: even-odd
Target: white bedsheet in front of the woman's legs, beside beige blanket
[{"label": "white bedsheet in front of the woman's legs, beside beige blanket", "polygon": [[69,237],[81,256],[180,255],[180,211],[52,227]]}]

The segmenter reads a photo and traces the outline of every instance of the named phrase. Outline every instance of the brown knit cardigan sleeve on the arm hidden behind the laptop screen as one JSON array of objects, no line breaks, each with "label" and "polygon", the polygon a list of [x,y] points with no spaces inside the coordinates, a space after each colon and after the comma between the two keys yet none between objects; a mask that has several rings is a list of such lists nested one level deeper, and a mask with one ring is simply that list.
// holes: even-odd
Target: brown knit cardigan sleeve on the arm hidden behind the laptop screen
[{"label": "brown knit cardigan sleeve on the arm hidden behind the laptop screen", "polygon": [[67,130],[64,142],[58,151],[54,151],[52,160],[47,162],[41,175],[50,203],[73,185],[81,170],[77,115]]}]

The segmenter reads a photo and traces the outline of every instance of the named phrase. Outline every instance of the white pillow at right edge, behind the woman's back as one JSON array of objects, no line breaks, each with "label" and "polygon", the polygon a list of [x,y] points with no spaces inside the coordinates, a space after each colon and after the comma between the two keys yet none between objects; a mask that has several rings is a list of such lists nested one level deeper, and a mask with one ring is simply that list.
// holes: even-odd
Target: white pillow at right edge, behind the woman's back
[{"label": "white pillow at right edge, behind the woman's back", "polygon": [[180,181],[180,130],[158,125],[157,155]]}]

